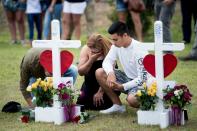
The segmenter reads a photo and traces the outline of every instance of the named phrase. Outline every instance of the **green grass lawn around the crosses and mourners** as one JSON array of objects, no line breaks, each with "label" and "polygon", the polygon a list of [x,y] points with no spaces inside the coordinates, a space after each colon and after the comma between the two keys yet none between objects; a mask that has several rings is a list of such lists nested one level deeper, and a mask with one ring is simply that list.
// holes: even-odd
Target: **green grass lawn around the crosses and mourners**
[{"label": "green grass lawn around the crosses and mourners", "polygon": [[[179,6],[179,5],[178,5]],[[180,42],[182,39],[181,33],[181,15],[180,9],[177,8],[176,14],[172,21],[173,41]],[[102,33],[105,33],[104,28],[99,28]],[[21,59],[28,47],[21,45],[9,45],[9,32],[2,28],[0,32],[0,109],[8,101],[17,101],[22,106],[27,106],[22,94],[19,90],[19,65]],[[83,36],[83,43],[85,37]],[[145,41],[153,41],[153,29],[145,36]],[[190,45],[186,45],[184,51],[176,52],[176,56],[183,56],[190,51],[194,38]],[[71,50],[75,55],[74,63],[78,61],[80,49]],[[181,62],[179,61],[176,70],[167,78],[168,80],[176,80],[177,83],[186,84],[193,94],[192,106],[188,109],[189,121],[185,126],[174,127],[170,126],[166,130],[196,130],[197,128],[197,62]],[[76,87],[80,88],[83,77],[78,77]],[[121,95],[124,104],[125,95]],[[127,106],[127,111],[123,114],[101,115],[98,112],[90,111],[90,114],[96,115],[94,119],[86,124],[65,123],[61,126],[53,123],[35,123],[31,122],[24,124],[20,121],[20,113],[2,113],[0,112],[0,130],[160,130],[159,126],[141,126],[137,124],[136,109]],[[146,117],[146,116],[145,116]],[[159,118],[158,118],[159,119]]]}]

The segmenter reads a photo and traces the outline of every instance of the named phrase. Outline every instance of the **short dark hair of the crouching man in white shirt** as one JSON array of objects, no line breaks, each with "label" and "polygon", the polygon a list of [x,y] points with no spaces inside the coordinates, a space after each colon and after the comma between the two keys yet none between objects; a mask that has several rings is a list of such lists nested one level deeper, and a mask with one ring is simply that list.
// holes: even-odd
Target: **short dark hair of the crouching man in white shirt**
[{"label": "short dark hair of the crouching man in white shirt", "polygon": [[109,34],[115,34],[117,33],[118,35],[122,36],[124,33],[127,33],[130,35],[129,29],[127,25],[123,22],[116,21],[114,22],[108,29]]}]

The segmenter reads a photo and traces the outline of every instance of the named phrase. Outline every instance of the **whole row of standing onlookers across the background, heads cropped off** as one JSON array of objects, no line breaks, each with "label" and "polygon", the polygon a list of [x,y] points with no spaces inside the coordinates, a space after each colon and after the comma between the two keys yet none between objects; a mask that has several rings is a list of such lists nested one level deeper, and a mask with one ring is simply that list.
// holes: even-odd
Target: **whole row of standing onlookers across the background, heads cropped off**
[{"label": "whole row of standing onlookers across the background, heads cropped off", "polygon": [[[2,0],[4,2],[6,0]],[[85,15],[87,21],[87,36],[94,30],[95,5],[100,0],[14,0],[19,4],[16,10],[4,7],[11,33],[11,44],[29,43],[34,39],[50,39],[50,22],[58,19],[61,22],[61,39],[80,39],[81,37],[81,16]],[[116,12],[118,20],[126,22],[127,11],[134,24],[135,36],[143,41],[143,23],[140,13],[129,10],[130,0],[116,0]],[[132,0],[131,0],[132,2]],[[197,18],[197,0],[180,0],[182,14],[183,42],[190,43],[192,36],[192,17],[194,24]],[[171,20],[175,11],[176,0],[154,0],[155,20],[163,22],[164,42],[171,42]],[[145,10],[146,11],[146,10]],[[25,41],[25,15],[28,23],[28,42]],[[19,40],[17,36],[17,26]],[[37,33],[34,32],[36,26]],[[73,36],[72,36],[73,34]]]}]

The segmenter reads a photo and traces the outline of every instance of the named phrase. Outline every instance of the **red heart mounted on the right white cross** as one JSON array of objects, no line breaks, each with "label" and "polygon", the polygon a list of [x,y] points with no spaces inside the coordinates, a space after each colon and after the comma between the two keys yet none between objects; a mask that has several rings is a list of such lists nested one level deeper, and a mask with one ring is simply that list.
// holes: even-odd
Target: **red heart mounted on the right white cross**
[{"label": "red heart mounted on the right white cross", "polygon": [[[143,59],[144,68],[155,77],[155,56],[152,54],[146,55]],[[164,78],[173,72],[177,65],[177,59],[172,54],[163,56]]]}]

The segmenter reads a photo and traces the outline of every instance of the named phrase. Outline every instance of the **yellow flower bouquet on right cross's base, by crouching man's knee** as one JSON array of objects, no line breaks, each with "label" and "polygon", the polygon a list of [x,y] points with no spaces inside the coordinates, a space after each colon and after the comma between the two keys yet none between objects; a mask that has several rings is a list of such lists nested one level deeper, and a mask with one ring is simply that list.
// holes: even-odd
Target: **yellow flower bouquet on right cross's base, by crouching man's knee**
[{"label": "yellow flower bouquet on right cross's base, by crouching man's knee", "polygon": [[149,87],[146,85],[146,83],[144,83],[143,88],[137,91],[136,96],[139,100],[141,110],[155,109],[156,103],[158,101],[156,92],[156,82],[152,83]]}]

